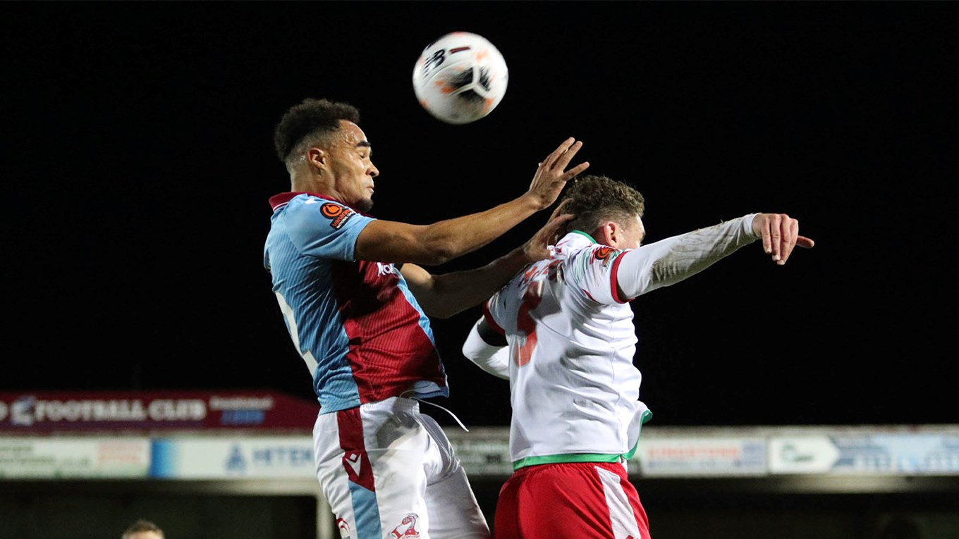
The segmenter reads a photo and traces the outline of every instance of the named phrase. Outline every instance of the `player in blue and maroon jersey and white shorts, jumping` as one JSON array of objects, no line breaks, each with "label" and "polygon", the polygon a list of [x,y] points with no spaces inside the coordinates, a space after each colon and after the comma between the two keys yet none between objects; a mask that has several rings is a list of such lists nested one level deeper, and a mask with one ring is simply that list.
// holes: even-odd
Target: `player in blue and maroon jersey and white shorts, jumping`
[{"label": "player in blue and maroon jersey and white shorts, jumping", "polygon": [[582,146],[569,138],[516,199],[432,224],[380,220],[365,213],[380,171],[359,123],[353,105],[308,99],[274,132],[290,191],[269,200],[264,266],[320,405],[316,476],[353,539],[488,538],[449,440],[419,410],[420,399],[449,395],[428,316],[477,306],[548,256],[568,216],[554,211],[524,246],[481,268],[432,274],[419,265],[487,245],[549,207],[589,163],[567,170]]}]

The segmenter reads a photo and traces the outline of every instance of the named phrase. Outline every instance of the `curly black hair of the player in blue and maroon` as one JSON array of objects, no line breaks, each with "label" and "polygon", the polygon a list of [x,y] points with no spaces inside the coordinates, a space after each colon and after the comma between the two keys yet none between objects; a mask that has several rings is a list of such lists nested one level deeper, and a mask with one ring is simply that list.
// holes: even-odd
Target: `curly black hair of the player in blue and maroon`
[{"label": "curly black hair of the player in blue and maroon", "polygon": [[287,163],[300,144],[314,144],[323,136],[338,131],[340,120],[359,124],[360,109],[348,103],[313,98],[291,106],[273,130],[276,156]]}]

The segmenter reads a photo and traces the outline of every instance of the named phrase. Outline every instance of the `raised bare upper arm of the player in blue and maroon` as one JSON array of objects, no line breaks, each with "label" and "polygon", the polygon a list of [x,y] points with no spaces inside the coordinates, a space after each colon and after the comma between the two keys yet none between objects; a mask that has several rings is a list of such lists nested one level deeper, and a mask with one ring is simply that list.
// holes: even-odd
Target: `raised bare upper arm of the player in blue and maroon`
[{"label": "raised bare upper arm of the player in blue and maroon", "polygon": [[546,209],[566,183],[588,162],[569,168],[582,142],[568,138],[539,163],[529,189],[516,199],[475,214],[433,224],[377,220],[357,238],[356,256],[377,262],[435,266],[472,252],[502,236],[534,213]]}]

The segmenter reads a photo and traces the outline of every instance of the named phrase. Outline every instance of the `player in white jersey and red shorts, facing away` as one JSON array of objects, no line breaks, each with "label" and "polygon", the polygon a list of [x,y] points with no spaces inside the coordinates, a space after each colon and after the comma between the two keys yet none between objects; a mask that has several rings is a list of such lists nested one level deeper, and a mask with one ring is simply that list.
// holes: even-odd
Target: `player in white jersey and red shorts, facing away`
[{"label": "player in white jersey and red shorts, facing away", "polygon": [[651,412],[640,401],[629,305],[759,239],[777,264],[811,247],[785,214],[749,214],[641,246],[645,199],[606,176],[581,176],[575,215],[549,259],[532,263],[485,304],[463,354],[509,380],[513,475],[496,539],[649,539],[626,462]]}]

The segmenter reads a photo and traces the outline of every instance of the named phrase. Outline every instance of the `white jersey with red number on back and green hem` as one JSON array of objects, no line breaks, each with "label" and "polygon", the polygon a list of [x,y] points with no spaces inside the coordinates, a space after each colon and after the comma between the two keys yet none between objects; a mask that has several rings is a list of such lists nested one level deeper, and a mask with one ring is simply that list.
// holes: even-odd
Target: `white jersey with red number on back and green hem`
[{"label": "white jersey with red number on back and green hem", "polygon": [[621,251],[571,232],[487,301],[509,344],[514,468],[632,456],[651,412],[628,302],[755,241],[754,215]]}]

